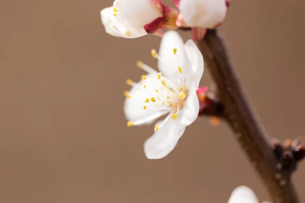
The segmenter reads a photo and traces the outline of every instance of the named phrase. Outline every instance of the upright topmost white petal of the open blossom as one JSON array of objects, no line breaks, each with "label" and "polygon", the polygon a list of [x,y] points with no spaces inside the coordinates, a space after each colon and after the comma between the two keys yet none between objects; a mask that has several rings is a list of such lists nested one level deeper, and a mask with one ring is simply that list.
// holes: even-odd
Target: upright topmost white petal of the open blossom
[{"label": "upright topmost white petal of the open blossom", "polygon": [[[173,50],[177,49],[176,55]],[[184,42],[176,31],[167,31],[159,49],[158,67],[162,74],[176,84],[181,84],[181,74],[178,67],[181,67],[184,78],[188,78],[192,71],[190,61],[184,50]]]}]

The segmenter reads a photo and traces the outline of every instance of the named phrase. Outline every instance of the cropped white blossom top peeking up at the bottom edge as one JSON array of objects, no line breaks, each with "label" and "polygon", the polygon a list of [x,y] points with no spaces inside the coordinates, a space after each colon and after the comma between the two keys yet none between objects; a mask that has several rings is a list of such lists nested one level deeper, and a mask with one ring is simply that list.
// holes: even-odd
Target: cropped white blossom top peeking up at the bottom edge
[{"label": "cropped white blossom top peeking up at the bottom edge", "polygon": [[[233,190],[228,203],[259,203],[259,200],[249,187],[241,185]],[[261,203],[270,202],[263,201]]]}]

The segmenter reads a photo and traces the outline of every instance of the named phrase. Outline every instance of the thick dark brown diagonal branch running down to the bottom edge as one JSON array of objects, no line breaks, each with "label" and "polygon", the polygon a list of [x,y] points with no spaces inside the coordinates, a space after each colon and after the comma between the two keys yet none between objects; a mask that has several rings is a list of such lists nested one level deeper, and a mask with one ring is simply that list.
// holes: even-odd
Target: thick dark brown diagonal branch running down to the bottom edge
[{"label": "thick dark brown diagonal branch running down to the bottom edge", "polygon": [[291,170],[283,170],[273,153],[267,132],[252,109],[245,88],[217,29],[208,30],[198,47],[218,87],[226,119],[274,203],[298,203]]}]

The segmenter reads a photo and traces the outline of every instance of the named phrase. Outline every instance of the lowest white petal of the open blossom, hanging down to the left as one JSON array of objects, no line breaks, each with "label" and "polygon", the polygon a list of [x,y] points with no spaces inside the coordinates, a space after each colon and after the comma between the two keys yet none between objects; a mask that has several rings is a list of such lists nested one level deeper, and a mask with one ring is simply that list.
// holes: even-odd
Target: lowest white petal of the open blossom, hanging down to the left
[{"label": "lowest white petal of the open blossom, hanging down to the left", "polygon": [[155,131],[153,136],[144,143],[144,152],[149,159],[160,159],[168,155],[177,145],[179,138],[186,127],[180,125],[179,120],[174,120],[171,115],[164,120],[164,123]]}]

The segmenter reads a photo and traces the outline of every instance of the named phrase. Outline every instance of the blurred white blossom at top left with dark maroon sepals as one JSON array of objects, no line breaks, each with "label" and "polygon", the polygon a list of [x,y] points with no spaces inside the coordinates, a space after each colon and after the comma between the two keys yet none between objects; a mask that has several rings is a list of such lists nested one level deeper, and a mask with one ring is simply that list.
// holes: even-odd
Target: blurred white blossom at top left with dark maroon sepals
[{"label": "blurred white blossom at top left with dark maroon sepals", "polygon": [[138,38],[147,33],[161,36],[163,28],[176,29],[177,14],[161,0],[115,0],[101,11],[101,19],[109,35]]}]

